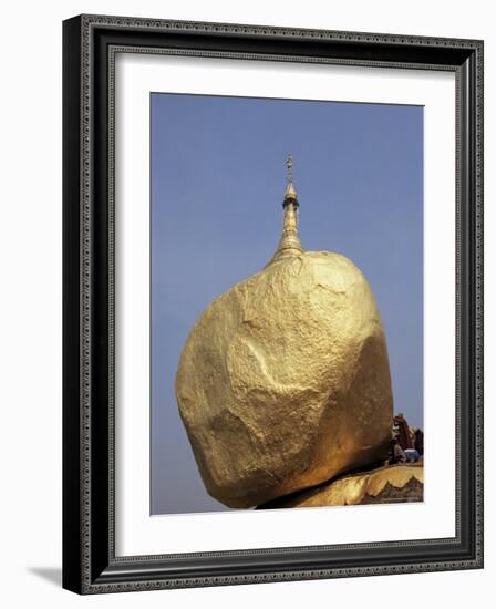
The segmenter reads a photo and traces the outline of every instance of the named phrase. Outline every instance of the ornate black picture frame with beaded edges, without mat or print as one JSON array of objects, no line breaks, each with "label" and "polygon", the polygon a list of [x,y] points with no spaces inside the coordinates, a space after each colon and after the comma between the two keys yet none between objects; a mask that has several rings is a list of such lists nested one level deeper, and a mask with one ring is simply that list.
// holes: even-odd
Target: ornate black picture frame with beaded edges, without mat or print
[{"label": "ornate black picture frame with beaded edges, without mat or print", "polygon": [[[115,555],[113,87],[118,50],[455,72],[454,538]],[[63,56],[64,588],[99,593],[482,568],[483,42],[82,16],[63,24]]]}]

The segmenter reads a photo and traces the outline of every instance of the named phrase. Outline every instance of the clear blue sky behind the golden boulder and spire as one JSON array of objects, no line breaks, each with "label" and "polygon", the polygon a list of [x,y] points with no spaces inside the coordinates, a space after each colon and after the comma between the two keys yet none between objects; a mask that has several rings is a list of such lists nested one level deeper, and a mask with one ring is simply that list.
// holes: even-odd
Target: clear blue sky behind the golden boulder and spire
[{"label": "clear blue sky behind the golden boulder and spire", "polygon": [[164,93],[151,107],[152,514],[227,509],[199,478],[174,379],[196,318],[273,254],[289,152],[303,248],[364,272],[394,411],[423,426],[423,109]]}]

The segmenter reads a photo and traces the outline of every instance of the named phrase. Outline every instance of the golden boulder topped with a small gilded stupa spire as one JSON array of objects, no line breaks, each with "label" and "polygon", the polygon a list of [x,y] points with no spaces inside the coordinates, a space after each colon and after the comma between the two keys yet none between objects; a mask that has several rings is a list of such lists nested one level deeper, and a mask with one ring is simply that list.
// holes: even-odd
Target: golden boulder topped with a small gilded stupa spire
[{"label": "golden boulder topped with a small gilded stupa spire", "polygon": [[208,493],[252,507],[385,460],[393,396],[371,288],[341,254],[304,251],[289,156],[278,248],[196,320],[176,376]]}]

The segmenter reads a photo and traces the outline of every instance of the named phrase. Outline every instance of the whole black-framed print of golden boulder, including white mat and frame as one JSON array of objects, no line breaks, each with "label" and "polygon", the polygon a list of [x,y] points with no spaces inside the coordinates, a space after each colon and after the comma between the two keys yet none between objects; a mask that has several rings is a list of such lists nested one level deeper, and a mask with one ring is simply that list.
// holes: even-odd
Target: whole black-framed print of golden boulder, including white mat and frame
[{"label": "whole black-framed print of golden boulder, including white mat and frame", "polygon": [[63,585],[483,566],[483,42],[81,16]]}]

